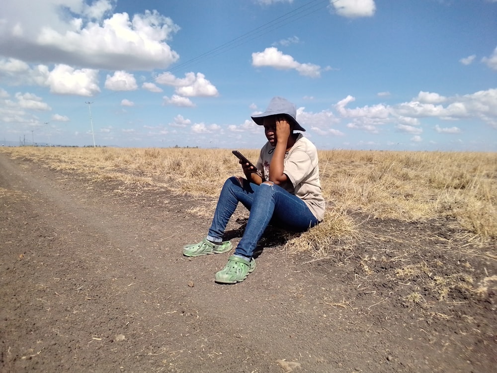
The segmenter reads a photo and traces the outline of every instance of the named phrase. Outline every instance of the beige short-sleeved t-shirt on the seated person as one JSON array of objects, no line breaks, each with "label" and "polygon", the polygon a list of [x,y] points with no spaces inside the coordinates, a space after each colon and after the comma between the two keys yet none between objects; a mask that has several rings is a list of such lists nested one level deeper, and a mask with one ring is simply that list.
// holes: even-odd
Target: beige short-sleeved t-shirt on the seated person
[{"label": "beige short-sleeved t-shirt on the seated person", "polygon": [[[269,141],[260,150],[257,170],[263,180],[269,180],[269,165],[273,158],[274,146]],[[302,199],[309,210],[321,221],[325,216],[325,199],[321,193],[319,180],[318,150],[314,144],[299,133],[295,144],[285,155],[283,173],[290,184],[285,189]]]}]

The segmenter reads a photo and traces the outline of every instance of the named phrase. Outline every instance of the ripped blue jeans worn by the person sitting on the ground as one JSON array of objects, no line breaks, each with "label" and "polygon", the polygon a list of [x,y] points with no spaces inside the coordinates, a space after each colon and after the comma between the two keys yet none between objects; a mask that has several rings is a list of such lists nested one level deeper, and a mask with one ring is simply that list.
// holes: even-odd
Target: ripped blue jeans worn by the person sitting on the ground
[{"label": "ripped blue jeans worn by the person sitting on the ground", "polygon": [[244,235],[235,250],[236,255],[251,258],[269,222],[297,232],[303,232],[319,223],[302,199],[282,187],[264,183],[256,185],[245,179],[242,186],[237,177],[231,177],[224,183],[219,195],[208,240],[223,241],[224,231],[238,202],[242,202],[250,214]]}]

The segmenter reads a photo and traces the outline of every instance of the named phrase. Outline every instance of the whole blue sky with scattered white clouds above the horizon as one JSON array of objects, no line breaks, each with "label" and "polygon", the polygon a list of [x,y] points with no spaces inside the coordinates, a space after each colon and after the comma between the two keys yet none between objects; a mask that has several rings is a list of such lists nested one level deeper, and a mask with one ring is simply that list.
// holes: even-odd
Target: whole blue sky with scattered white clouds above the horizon
[{"label": "whole blue sky with scattered white clouds above the horizon", "polygon": [[497,0],[2,1],[2,143],[260,148],[275,95],[319,149],[495,152]]}]

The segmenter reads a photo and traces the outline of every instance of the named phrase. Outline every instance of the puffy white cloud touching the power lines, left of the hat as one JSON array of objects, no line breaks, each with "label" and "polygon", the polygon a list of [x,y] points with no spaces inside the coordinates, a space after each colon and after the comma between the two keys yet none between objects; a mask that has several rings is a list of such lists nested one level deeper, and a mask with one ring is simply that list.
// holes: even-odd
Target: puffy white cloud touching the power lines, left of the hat
[{"label": "puffy white cloud touching the power lines, left of the hat", "polygon": [[216,87],[211,84],[202,73],[186,73],[183,79],[176,78],[169,72],[163,73],[155,78],[156,83],[175,87],[175,92],[181,96],[217,96]]}]

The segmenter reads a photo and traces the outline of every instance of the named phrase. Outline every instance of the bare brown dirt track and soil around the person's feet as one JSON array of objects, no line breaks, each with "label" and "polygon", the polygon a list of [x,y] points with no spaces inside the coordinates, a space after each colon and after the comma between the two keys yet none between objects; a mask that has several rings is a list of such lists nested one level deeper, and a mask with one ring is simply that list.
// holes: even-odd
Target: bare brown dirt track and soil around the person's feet
[{"label": "bare brown dirt track and soil around the person's feet", "polygon": [[[1,372],[491,372],[496,242],[359,213],[360,239],[215,284],[202,203],[0,155]],[[242,218],[228,235],[236,242]],[[262,248],[262,247],[261,247]]]}]

